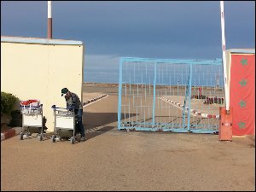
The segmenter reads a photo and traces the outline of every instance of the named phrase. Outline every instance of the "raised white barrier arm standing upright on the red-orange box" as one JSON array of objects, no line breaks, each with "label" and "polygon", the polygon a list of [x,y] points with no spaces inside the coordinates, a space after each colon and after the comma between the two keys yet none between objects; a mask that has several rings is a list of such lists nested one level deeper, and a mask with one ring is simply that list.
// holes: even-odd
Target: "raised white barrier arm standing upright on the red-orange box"
[{"label": "raised white barrier arm standing upright on the red-orange box", "polygon": [[224,1],[220,1],[220,18],[221,18],[221,37],[222,37],[222,62],[224,69],[224,92],[226,113],[230,111],[230,90],[227,82],[227,63],[226,63],[226,43],[225,43],[225,26],[224,26]]}]

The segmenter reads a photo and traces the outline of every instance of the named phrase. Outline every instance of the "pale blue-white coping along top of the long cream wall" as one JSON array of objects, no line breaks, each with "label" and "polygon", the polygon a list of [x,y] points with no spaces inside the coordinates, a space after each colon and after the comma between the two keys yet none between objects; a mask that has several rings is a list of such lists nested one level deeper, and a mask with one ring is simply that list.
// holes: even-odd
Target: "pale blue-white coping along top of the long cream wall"
[{"label": "pale blue-white coping along top of the long cream wall", "polygon": [[83,45],[82,41],[73,41],[65,39],[49,39],[49,38],[27,38],[1,36],[1,42],[17,43],[17,44],[67,44],[67,45]]}]

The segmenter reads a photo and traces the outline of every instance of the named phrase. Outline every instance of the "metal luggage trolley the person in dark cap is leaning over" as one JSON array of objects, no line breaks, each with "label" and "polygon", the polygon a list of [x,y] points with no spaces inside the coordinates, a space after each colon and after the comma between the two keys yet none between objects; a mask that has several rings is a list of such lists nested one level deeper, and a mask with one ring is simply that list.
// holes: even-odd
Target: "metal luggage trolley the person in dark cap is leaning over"
[{"label": "metal luggage trolley the person in dark cap is leaning over", "polygon": [[56,139],[62,140],[68,138],[71,144],[73,144],[75,140],[80,142],[81,137],[77,134],[77,117],[74,113],[74,109],[70,111],[67,108],[56,108],[55,105],[51,108],[53,108],[55,115],[55,128],[51,141],[55,143]]}]

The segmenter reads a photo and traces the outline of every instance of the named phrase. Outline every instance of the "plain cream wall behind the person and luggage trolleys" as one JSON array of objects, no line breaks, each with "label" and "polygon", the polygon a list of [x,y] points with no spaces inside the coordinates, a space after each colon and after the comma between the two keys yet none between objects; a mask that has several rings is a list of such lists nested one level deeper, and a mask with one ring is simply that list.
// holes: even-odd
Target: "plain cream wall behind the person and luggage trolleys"
[{"label": "plain cream wall behind the person and luggage trolleys", "polygon": [[51,106],[66,108],[62,88],[67,87],[83,102],[84,46],[61,42],[26,44],[3,42],[1,38],[1,91],[12,93],[21,101],[40,100],[47,131],[54,131]]}]

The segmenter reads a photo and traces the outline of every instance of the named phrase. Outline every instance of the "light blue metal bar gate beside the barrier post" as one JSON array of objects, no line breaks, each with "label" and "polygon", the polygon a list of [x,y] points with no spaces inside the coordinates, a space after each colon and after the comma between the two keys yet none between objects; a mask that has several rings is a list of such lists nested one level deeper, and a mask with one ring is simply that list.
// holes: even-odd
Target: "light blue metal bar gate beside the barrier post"
[{"label": "light blue metal bar gate beside the barrier post", "polygon": [[121,58],[118,129],[218,132],[221,60]]}]

